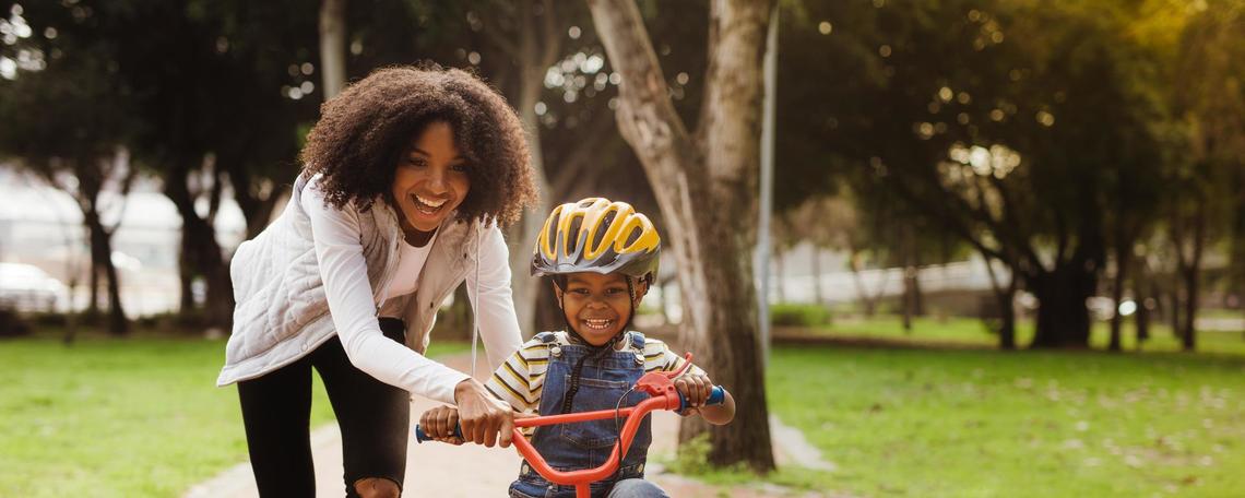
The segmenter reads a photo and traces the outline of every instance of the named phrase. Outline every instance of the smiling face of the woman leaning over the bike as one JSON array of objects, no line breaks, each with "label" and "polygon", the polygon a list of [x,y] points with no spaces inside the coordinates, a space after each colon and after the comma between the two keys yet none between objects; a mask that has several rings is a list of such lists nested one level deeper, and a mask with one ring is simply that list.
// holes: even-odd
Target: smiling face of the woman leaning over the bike
[{"label": "smiling face of the woman leaning over the bike", "polygon": [[453,128],[441,121],[430,123],[398,159],[393,176],[393,202],[403,228],[436,230],[469,190],[467,162],[454,146]]}]

